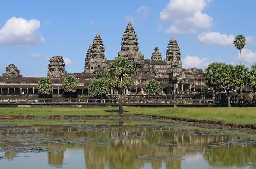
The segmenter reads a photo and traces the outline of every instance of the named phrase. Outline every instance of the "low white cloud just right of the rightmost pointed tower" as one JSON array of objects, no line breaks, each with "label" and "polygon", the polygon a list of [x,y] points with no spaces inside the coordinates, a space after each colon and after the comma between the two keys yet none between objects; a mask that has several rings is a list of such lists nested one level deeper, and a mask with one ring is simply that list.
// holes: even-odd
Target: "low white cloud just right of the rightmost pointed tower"
[{"label": "low white cloud just right of the rightmost pointed tower", "polygon": [[187,55],[187,57],[184,60],[182,59],[182,68],[196,67],[198,69],[204,69],[209,64],[207,61],[208,61],[208,58],[200,59],[197,56]]}]

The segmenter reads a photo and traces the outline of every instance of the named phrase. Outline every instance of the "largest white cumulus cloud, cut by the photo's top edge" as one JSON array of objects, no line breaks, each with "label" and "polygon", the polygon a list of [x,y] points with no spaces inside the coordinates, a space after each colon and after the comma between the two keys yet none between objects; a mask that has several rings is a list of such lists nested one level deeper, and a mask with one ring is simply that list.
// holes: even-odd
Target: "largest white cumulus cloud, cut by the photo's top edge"
[{"label": "largest white cumulus cloud, cut by the photo's top edge", "polygon": [[209,0],[170,0],[160,12],[160,21],[171,23],[166,33],[196,33],[200,29],[210,28],[213,24],[212,17],[202,13],[209,2]]}]

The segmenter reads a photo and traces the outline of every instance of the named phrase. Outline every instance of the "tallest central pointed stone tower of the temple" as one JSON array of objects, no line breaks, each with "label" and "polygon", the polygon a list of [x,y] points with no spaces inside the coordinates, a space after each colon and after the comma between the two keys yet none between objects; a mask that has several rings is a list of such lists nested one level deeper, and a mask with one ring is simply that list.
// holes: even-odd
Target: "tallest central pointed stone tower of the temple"
[{"label": "tallest central pointed stone tower of the temple", "polygon": [[128,23],[125,29],[121,46],[118,57],[127,57],[130,62],[133,62],[135,67],[140,68],[144,66],[144,55],[142,56],[139,51],[138,38],[131,22]]}]

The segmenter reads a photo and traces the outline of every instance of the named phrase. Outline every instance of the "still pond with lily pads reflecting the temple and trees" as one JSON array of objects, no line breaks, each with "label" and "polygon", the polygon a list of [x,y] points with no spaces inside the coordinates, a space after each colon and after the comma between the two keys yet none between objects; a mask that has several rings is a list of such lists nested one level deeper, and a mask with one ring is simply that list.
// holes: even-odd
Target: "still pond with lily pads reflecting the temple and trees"
[{"label": "still pond with lily pads reflecting the temple and trees", "polygon": [[256,168],[253,135],[123,123],[1,125],[0,168]]}]

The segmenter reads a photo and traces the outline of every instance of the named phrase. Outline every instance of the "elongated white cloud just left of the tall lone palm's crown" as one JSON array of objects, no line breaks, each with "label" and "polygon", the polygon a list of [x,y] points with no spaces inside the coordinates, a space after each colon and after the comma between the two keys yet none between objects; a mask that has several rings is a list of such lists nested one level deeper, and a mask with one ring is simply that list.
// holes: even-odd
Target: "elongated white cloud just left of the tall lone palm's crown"
[{"label": "elongated white cloud just left of the tall lone palm's crown", "polygon": [[234,35],[221,34],[219,32],[201,32],[197,36],[198,40],[203,44],[214,44],[219,46],[233,46]]}]

